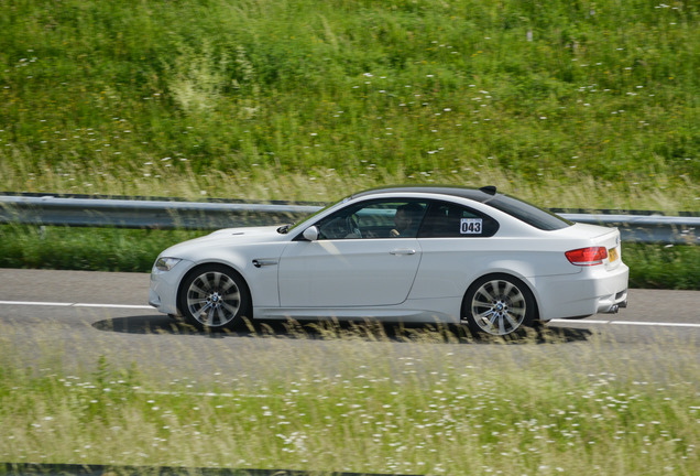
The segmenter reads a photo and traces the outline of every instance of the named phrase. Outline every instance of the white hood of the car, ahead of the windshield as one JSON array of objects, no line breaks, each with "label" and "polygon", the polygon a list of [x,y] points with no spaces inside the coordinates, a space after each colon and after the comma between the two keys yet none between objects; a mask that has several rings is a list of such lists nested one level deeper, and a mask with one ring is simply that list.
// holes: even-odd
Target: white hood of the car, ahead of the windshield
[{"label": "white hood of the car, ahead of the windshield", "polygon": [[163,251],[161,256],[187,258],[192,251],[201,250],[203,247],[282,241],[286,235],[277,232],[277,228],[278,226],[225,228],[199,238],[174,245]]}]

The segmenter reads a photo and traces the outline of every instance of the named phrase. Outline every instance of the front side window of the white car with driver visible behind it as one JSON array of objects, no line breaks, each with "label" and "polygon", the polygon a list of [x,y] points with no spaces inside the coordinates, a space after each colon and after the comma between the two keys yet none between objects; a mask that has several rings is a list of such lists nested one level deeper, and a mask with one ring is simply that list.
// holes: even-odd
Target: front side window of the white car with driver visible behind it
[{"label": "front side window of the white car with driver visible behind it", "polygon": [[415,238],[426,201],[383,199],[346,207],[317,224],[319,239]]}]

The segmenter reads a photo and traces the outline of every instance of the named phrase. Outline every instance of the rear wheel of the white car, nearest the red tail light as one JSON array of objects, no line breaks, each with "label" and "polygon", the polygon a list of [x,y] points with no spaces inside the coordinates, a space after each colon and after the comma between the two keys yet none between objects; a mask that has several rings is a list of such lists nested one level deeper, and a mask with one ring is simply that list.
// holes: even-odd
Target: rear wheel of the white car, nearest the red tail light
[{"label": "rear wheel of the white car, nearest the red tail light", "polygon": [[461,321],[477,335],[522,335],[534,325],[536,314],[535,298],[523,281],[508,274],[490,274],[467,290]]}]

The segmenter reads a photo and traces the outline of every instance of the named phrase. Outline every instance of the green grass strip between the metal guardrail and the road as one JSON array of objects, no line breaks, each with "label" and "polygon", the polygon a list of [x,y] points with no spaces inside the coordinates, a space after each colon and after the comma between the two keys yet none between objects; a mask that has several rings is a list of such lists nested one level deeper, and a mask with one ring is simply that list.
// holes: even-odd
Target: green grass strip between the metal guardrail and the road
[{"label": "green grass strip between the metal guardrail and the road", "polygon": [[[150,272],[171,245],[207,231],[0,227],[0,268]],[[624,244],[632,288],[700,290],[700,247]]]}]

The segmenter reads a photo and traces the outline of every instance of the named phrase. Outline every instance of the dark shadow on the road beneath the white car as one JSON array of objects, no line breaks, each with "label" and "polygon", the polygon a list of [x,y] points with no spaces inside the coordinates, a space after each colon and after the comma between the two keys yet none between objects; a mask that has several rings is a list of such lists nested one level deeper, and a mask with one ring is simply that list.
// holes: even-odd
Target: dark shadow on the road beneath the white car
[{"label": "dark shadow on the road beneath the white car", "polygon": [[434,344],[556,344],[588,340],[589,329],[535,326],[514,337],[475,336],[466,326],[362,322],[255,321],[236,329],[199,331],[168,316],[141,315],[114,317],[92,324],[98,331],[124,334],[192,335],[206,338],[286,338],[303,340],[361,339],[368,342]]}]

